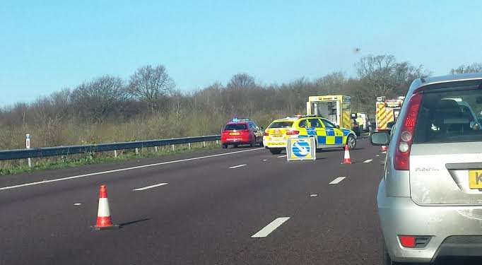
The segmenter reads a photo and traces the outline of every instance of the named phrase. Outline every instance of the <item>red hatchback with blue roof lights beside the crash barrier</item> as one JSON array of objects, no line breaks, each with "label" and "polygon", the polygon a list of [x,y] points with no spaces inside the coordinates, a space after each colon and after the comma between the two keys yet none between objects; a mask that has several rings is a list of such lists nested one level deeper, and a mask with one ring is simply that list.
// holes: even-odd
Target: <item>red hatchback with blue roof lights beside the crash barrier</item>
[{"label": "red hatchback with blue roof lights beside the crash barrier", "polygon": [[249,144],[254,147],[263,144],[263,127],[258,126],[250,119],[233,119],[224,126],[221,134],[221,146]]}]

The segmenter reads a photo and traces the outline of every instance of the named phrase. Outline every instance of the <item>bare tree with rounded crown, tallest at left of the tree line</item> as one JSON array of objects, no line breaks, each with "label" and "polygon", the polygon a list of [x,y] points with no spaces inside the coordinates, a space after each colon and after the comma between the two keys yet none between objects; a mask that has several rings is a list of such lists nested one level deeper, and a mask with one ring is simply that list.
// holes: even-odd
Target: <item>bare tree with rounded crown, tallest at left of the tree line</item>
[{"label": "bare tree with rounded crown, tallest at left of the tree line", "polygon": [[151,112],[159,110],[159,100],[175,88],[175,83],[163,65],[143,66],[131,76],[129,93],[144,100]]}]

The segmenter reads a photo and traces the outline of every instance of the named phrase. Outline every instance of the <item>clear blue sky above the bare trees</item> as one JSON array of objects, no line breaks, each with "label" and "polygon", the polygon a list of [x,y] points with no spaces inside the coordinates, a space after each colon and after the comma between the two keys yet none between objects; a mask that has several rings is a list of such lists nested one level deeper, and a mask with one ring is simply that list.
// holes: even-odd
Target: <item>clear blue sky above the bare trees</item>
[{"label": "clear blue sky above the bare trees", "polygon": [[[138,3],[139,2],[139,3]],[[264,84],[393,54],[441,75],[482,62],[480,1],[0,3],[0,106],[163,64],[180,90],[246,72]],[[361,51],[355,53],[355,47]]]}]

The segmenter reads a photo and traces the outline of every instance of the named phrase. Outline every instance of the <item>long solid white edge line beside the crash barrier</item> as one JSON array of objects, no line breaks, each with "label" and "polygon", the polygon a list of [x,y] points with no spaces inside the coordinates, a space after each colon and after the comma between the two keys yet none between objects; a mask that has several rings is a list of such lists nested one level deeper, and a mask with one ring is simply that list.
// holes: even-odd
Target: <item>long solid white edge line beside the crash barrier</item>
[{"label": "long solid white edge line beside the crash barrier", "polygon": [[104,175],[104,174],[109,174],[109,173],[114,173],[114,172],[136,170],[136,169],[144,168],[144,167],[155,167],[157,165],[167,165],[167,164],[173,164],[173,163],[181,163],[181,162],[199,160],[199,159],[204,159],[204,158],[216,158],[218,156],[223,156],[223,155],[231,155],[231,154],[234,154],[234,153],[245,153],[245,152],[251,152],[251,151],[258,151],[258,150],[262,150],[262,149],[264,149],[264,148],[256,148],[256,149],[235,151],[235,152],[229,152],[229,153],[218,153],[216,155],[205,155],[205,156],[199,156],[197,158],[186,158],[186,159],[181,159],[181,160],[173,160],[173,161],[167,161],[167,162],[161,162],[161,163],[155,163],[155,164],[149,164],[149,165],[138,165],[136,167],[119,168],[118,170],[107,170],[107,171],[101,171],[101,172],[93,172],[93,173],[89,173],[89,174],[83,174],[83,175],[72,176],[72,177],[61,177],[59,179],[48,179],[48,180],[42,180],[40,182],[30,182],[30,183],[19,184],[19,185],[14,185],[14,186],[1,187],[0,191],[5,190],[5,189],[16,189],[16,188],[20,188],[20,187],[33,186],[33,185],[38,185],[38,184],[45,184],[45,183],[50,183],[50,182],[59,182],[59,181],[69,180],[69,179],[79,179],[79,178],[82,178],[82,177]]}]

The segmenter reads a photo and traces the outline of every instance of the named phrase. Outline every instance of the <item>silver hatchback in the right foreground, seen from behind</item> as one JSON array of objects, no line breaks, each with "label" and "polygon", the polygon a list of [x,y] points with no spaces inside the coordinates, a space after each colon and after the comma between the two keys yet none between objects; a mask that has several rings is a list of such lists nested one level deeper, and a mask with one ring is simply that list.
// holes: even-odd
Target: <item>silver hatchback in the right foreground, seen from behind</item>
[{"label": "silver hatchback in the right foreground, seen from behind", "polygon": [[370,136],[389,144],[377,194],[384,264],[482,257],[481,116],[482,74],[421,78],[392,133]]}]

